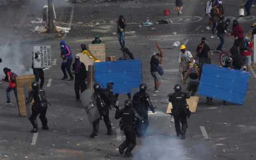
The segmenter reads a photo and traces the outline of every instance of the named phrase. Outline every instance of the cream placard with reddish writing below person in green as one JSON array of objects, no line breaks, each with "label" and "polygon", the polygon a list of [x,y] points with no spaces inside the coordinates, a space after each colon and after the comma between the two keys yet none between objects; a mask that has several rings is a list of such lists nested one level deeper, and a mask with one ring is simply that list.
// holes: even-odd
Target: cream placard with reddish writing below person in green
[{"label": "cream placard with reddish writing below person in green", "polygon": [[101,44],[89,44],[88,49],[92,55],[94,55],[101,62],[106,61],[106,45],[105,43]]}]

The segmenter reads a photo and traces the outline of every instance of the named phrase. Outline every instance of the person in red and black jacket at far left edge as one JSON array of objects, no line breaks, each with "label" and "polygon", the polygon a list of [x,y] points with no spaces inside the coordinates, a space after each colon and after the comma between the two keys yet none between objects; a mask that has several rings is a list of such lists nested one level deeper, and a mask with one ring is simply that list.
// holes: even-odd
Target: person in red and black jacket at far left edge
[{"label": "person in red and black jacket at far left edge", "polygon": [[11,79],[12,73],[11,69],[9,68],[4,68],[3,69],[4,73],[5,73],[5,79],[2,79],[5,82],[9,82],[9,86],[6,89],[6,96],[7,96],[7,101],[5,102],[5,104],[11,105],[11,100],[10,100],[10,92],[13,90],[14,91],[14,95],[17,101],[17,106],[18,107],[18,96],[17,96],[17,88],[16,88],[16,83]]}]

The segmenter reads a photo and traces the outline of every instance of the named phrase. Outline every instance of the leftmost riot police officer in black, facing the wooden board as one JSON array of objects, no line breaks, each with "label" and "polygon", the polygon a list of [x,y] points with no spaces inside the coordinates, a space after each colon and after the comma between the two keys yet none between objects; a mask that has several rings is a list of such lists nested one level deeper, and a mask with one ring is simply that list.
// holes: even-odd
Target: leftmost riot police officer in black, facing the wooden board
[{"label": "leftmost riot police officer in black, facing the wooden board", "polygon": [[33,129],[31,132],[36,133],[38,132],[38,124],[36,117],[39,115],[39,118],[42,122],[42,129],[49,129],[47,125],[47,118],[45,117],[47,111],[47,99],[45,95],[45,91],[43,89],[39,89],[37,82],[32,82],[32,91],[29,93],[28,99],[26,99],[26,103],[30,103],[32,99],[34,99],[34,103],[31,107],[32,113],[28,120],[33,125]]}]

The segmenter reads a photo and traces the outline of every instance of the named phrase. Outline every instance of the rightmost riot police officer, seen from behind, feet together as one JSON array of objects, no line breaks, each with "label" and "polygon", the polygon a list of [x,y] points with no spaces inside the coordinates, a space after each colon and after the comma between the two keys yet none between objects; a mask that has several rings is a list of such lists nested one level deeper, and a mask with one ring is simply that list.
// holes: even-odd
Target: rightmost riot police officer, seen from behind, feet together
[{"label": "rightmost riot police officer, seen from behind, feet together", "polygon": [[[181,135],[181,138],[185,139],[185,133],[187,130],[187,117],[190,117],[190,111],[187,108],[186,99],[189,99],[190,95],[189,93],[181,92],[181,86],[179,84],[174,86],[174,91],[174,93],[168,94],[169,102],[171,102],[173,106],[171,109],[171,114],[174,117],[177,136]],[[182,124],[181,130],[180,122]]]}]

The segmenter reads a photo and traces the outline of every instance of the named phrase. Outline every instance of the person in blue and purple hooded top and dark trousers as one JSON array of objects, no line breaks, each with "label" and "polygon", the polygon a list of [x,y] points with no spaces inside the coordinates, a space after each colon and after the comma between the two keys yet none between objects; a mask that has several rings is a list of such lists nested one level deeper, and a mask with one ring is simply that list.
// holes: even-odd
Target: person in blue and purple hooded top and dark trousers
[{"label": "person in blue and purple hooded top and dark trousers", "polygon": [[65,80],[68,78],[66,71],[69,73],[69,81],[73,80],[73,75],[71,72],[71,65],[72,65],[72,61],[73,61],[73,54],[72,51],[70,49],[70,47],[68,45],[66,45],[65,40],[61,40],[60,43],[60,51],[61,54],[60,56],[62,57],[62,72],[64,74],[64,77],[62,78],[62,80]]}]

